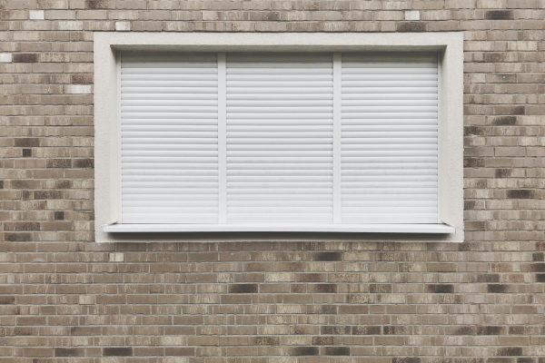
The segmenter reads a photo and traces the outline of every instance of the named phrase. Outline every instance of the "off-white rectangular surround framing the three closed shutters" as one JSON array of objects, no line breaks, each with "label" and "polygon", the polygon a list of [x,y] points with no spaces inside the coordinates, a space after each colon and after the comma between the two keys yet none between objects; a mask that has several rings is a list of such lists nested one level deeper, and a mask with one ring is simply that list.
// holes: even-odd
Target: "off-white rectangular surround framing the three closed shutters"
[{"label": "off-white rectangular surround framing the three closed shutters", "polygon": [[[439,54],[438,224],[366,224],[305,230],[241,228],[229,225],[120,224],[119,53],[179,52],[437,52]],[[145,241],[121,232],[369,232],[418,234],[421,240],[463,241],[463,35],[429,33],[115,33],[94,34],[94,230],[96,241]],[[378,237],[377,237],[378,236]],[[373,240],[381,240],[381,234]],[[383,238],[391,240],[391,235]],[[267,240],[266,236],[263,236]],[[149,240],[149,239],[147,239]],[[238,239],[240,240],[240,239]],[[255,240],[255,238],[253,238]],[[271,240],[271,239],[268,239]],[[308,240],[308,238],[307,238]],[[328,240],[332,240],[329,238]]]}]

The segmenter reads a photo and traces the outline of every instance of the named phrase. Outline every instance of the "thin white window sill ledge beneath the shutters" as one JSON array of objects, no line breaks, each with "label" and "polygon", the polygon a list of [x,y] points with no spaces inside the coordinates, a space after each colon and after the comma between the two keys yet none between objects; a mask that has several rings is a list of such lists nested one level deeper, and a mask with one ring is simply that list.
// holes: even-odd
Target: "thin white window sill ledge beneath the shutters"
[{"label": "thin white window sill ledge beneath the shutters", "polygon": [[454,227],[438,224],[348,224],[334,225],[206,225],[114,223],[103,226],[107,233],[134,232],[340,232],[340,233],[430,233],[451,234]]}]

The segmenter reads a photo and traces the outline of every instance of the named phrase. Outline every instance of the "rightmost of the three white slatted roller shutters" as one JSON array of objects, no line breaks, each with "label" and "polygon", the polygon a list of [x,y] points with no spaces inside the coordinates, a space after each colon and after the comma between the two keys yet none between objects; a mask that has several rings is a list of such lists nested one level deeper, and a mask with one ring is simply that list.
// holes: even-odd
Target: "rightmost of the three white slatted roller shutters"
[{"label": "rightmost of the three white slatted roller shutters", "polygon": [[438,222],[437,60],[342,58],[342,221]]}]

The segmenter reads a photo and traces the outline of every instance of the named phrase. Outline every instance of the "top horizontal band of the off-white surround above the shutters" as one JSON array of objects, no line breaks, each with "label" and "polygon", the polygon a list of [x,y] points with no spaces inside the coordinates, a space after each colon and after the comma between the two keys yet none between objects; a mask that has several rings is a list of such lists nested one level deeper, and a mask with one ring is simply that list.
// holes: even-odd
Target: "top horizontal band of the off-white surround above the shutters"
[{"label": "top horizontal band of the off-white surround above the shutters", "polygon": [[121,50],[233,51],[433,51],[462,39],[461,32],[426,33],[146,33],[100,32],[94,42]]}]

